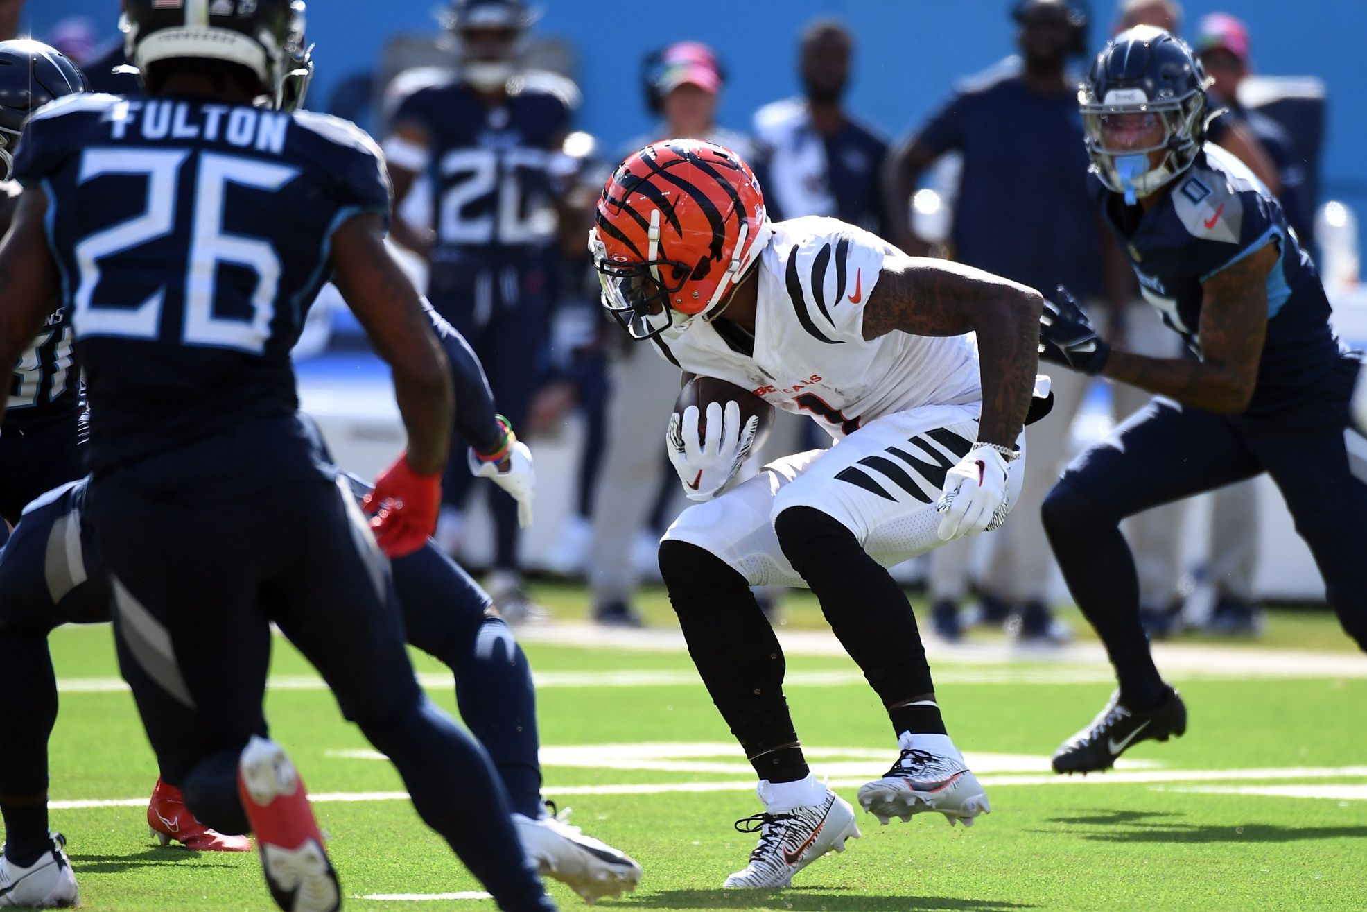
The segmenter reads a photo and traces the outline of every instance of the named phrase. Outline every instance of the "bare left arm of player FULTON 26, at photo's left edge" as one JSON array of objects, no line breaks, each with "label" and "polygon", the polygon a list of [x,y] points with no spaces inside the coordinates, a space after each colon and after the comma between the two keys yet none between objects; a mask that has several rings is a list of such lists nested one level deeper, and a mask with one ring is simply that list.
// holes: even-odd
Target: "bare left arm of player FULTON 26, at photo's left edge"
[{"label": "bare left arm of player FULTON 26, at photo's left edge", "polygon": [[62,279],[42,227],[46,212],[48,194],[41,187],[25,190],[0,243],[0,364],[19,360],[57,305]]}]

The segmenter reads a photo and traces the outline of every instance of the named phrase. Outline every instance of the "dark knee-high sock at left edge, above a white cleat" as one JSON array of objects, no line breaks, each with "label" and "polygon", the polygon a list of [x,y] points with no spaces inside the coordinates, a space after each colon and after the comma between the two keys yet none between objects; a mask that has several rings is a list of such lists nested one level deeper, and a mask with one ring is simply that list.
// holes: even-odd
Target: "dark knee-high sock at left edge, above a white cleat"
[{"label": "dark knee-high sock at left edge, above a white cleat", "polygon": [[[0,524],[4,525],[4,524]],[[46,630],[0,630],[0,814],[5,855],[29,866],[48,841],[48,736],[57,721],[57,681]]]}]

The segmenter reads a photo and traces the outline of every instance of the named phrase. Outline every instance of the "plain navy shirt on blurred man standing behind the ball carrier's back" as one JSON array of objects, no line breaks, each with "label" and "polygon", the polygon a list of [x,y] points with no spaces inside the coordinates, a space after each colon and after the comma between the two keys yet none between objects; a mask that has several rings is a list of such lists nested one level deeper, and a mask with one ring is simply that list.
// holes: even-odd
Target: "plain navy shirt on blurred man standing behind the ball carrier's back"
[{"label": "plain navy shirt on blurred man standing behind the ball carrier's back", "polygon": [[1039,289],[1100,294],[1103,230],[1087,196],[1083,116],[1073,92],[1039,94],[1018,62],[961,86],[916,134],[964,156],[954,258]]}]

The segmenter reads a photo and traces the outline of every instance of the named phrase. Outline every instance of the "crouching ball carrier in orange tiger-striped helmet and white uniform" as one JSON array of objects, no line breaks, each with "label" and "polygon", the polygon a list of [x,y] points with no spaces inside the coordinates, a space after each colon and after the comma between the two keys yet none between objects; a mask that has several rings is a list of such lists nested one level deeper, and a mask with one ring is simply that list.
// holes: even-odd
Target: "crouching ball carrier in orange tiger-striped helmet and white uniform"
[{"label": "crouching ball carrier in orange tiger-striped helmet and white uniform", "polygon": [[[1038,364],[1040,295],[913,258],[850,224],[774,224],[750,168],[707,142],[641,149],[608,179],[589,247],[603,305],[686,375],[807,413],[837,440],[733,484],[756,423],[711,403],[671,424],[688,495],[660,570],[689,652],[760,777],[749,866],[727,887],[782,887],[860,835],[808,770],[783,697],[783,654],[752,585],[807,585],[864,670],[901,755],[860,789],[882,822],[971,823],[987,796],[945,730],[925,649],[886,567],[998,528]],[[977,332],[977,347],[966,336]],[[718,429],[722,423],[730,427]]]}]

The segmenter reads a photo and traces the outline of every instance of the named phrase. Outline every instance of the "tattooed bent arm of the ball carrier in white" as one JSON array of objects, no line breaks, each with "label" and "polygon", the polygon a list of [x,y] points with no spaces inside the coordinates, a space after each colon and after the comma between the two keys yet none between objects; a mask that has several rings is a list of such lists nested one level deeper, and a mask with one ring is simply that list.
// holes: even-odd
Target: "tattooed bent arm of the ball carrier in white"
[{"label": "tattooed bent arm of the ball carrier in white", "polygon": [[1016,446],[1039,366],[1039,291],[943,260],[889,256],[864,305],[864,338],[899,330],[949,336],[977,332],[983,417],[977,439]]}]

